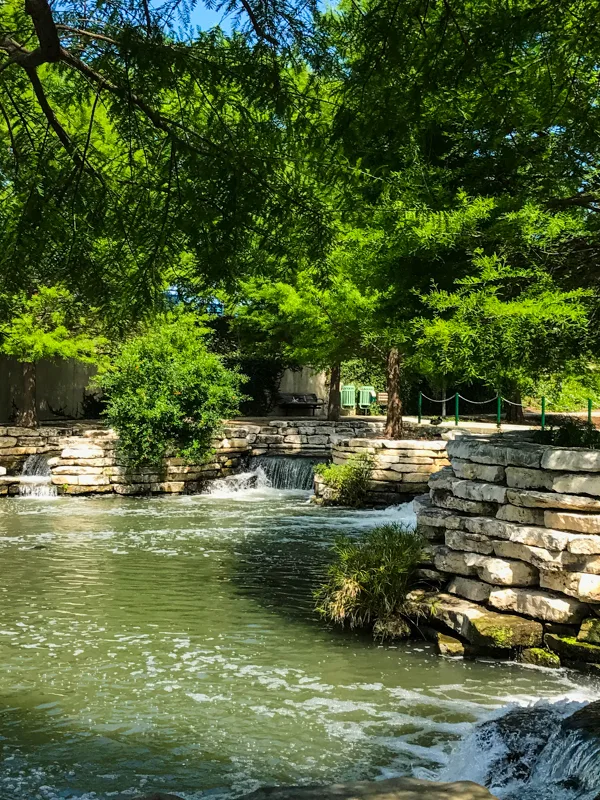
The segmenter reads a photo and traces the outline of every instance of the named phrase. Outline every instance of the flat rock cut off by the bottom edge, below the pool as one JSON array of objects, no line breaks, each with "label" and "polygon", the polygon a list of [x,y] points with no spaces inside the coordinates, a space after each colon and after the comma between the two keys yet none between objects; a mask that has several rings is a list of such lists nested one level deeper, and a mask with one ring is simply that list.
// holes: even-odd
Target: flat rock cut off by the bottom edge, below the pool
[{"label": "flat rock cut off by the bottom edge, below the pool", "polygon": [[274,786],[258,789],[246,800],[494,800],[471,781],[437,783],[418,778],[390,778],[333,786]]}]

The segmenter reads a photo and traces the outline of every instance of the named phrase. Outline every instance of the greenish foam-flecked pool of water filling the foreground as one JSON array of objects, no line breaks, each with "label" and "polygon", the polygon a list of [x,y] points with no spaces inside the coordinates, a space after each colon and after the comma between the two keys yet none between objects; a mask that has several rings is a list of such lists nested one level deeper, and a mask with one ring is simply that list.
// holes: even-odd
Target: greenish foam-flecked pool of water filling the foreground
[{"label": "greenish foam-flecked pool of water filling the foreground", "polygon": [[3,501],[1,800],[435,774],[490,708],[595,691],[327,629],[311,588],[335,534],[409,511],[306,500]]}]

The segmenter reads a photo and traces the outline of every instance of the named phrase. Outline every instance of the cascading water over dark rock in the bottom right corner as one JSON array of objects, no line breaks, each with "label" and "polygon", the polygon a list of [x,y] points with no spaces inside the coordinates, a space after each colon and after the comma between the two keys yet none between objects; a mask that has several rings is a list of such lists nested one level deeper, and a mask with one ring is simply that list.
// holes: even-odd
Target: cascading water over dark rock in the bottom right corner
[{"label": "cascading water over dark rock in the bottom right corner", "polygon": [[597,800],[598,703],[540,701],[495,712],[452,754],[440,780],[473,780],[500,800]]}]

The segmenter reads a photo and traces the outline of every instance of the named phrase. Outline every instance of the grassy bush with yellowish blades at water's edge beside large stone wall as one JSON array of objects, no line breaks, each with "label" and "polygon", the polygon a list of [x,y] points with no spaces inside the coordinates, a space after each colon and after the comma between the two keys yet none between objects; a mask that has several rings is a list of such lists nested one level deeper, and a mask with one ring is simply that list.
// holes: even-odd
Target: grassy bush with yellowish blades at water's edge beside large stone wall
[{"label": "grassy bush with yellowish blades at water's edge beside large stone wall", "polygon": [[338,538],[333,550],[336,559],[327,581],[315,592],[322,617],[354,628],[402,615],[423,558],[418,533],[402,525],[381,525],[358,540]]}]

